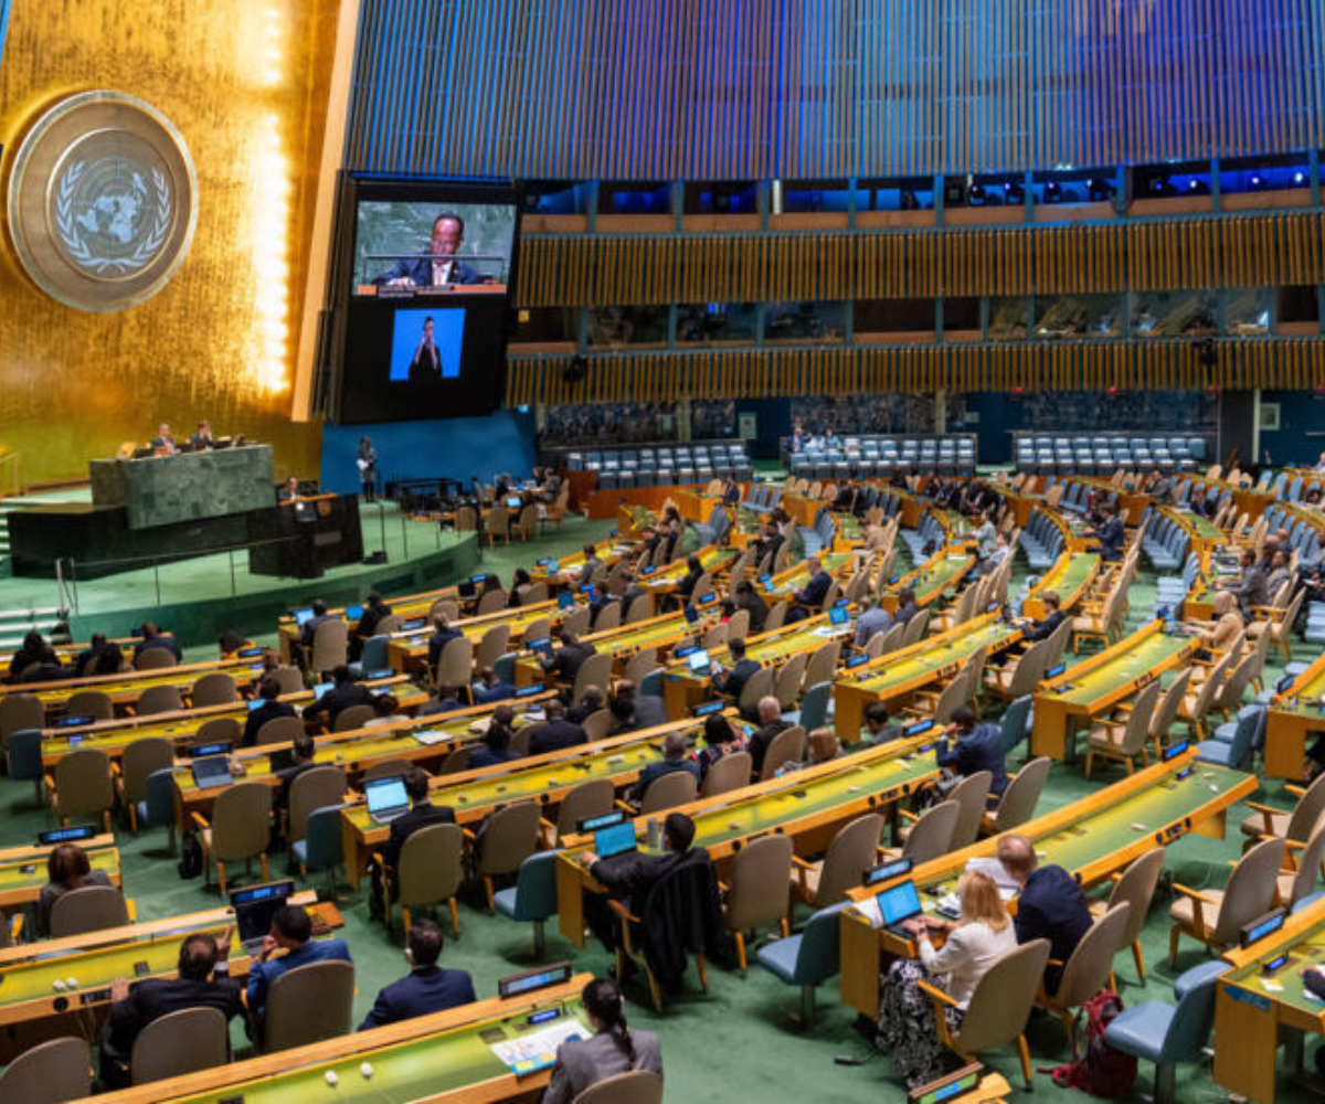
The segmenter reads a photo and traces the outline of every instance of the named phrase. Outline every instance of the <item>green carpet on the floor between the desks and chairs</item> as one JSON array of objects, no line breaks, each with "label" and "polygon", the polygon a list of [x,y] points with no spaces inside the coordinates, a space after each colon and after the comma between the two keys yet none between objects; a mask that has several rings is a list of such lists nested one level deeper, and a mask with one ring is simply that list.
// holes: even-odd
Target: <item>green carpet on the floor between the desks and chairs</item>
[{"label": "green carpet on the floor between the desks and chairs", "polygon": [[[608,522],[588,524],[570,520],[562,531],[554,533],[529,546],[485,549],[484,567],[496,571],[504,580],[519,563],[578,546],[586,539],[604,534]],[[1020,586],[1020,574],[1015,588]],[[1153,602],[1153,577],[1142,571],[1133,588],[1130,624],[1140,624]],[[1306,656],[1301,641],[1295,641],[1296,659]],[[204,649],[193,649],[189,659],[205,657]],[[1267,683],[1277,677],[1279,667],[1267,671]],[[1011,766],[1011,763],[1010,763]],[[1116,781],[1121,769],[1102,769],[1096,779],[1085,782],[1079,766],[1056,765],[1040,802],[1040,811],[1048,811],[1071,802],[1100,785]],[[1257,799],[1285,806],[1288,802],[1277,785],[1268,785]],[[1247,814],[1244,807],[1230,811],[1232,826],[1223,842],[1203,836],[1186,836],[1170,847],[1166,869],[1186,885],[1194,888],[1219,887],[1227,876],[1227,863],[1240,850],[1236,824]],[[0,781],[0,846],[25,843],[36,832],[52,823],[45,812],[32,808],[32,787],[26,783]],[[174,860],[164,855],[164,834],[159,831],[132,838],[117,828],[123,854],[125,887],[138,901],[143,920],[171,916],[213,907],[217,897],[203,891],[201,879],[180,881]],[[273,873],[282,871],[277,859]],[[314,883],[321,885],[321,883]],[[1170,897],[1157,896],[1143,933],[1143,946],[1149,983],[1142,989],[1136,983],[1130,956],[1117,958],[1118,978],[1124,999],[1137,1003],[1145,999],[1171,1001],[1171,981],[1181,970],[1204,961],[1204,952],[1186,941],[1178,960],[1177,971],[1166,961]],[[387,934],[380,924],[367,917],[367,904],[360,896],[342,905],[347,926],[342,933],[347,940],[359,970],[359,994],[355,1001],[356,1017],[370,1007],[378,989],[400,977],[405,965],[399,938]],[[804,918],[802,913],[800,918]],[[457,942],[448,940],[444,962],[468,969],[474,975],[481,997],[496,993],[496,982],[505,974],[531,965],[533,946],[529,925],[517,925],[501,917],[489,917],[480,900],[470,896],[461,907],[462,934]],[[444,924],[444,928],[447,925]],[[555,922],[549,925],[549,954],[572,958],[578,970],[603,971],[608,957],[596,948],[579,950],[564,944],[555,933]],[[753,957],[753,956],[751,956]],[[673,1001],[665,1015],[657,1017],[644,1003],[639,990],[631,990],[629,1021],[632,1026],[647,1027],[662,1036],[666,1066],[666,1099],[681,1104],[701,1101],[730,1101],[745,1091],[757,1091],[762,1101],[847,1101],[847,1100],[905,1100],[905,1092],[890,1076],[886,1056],[873,1058],[861,1067],[843,1067],[833,1062],[836,1055],[849,1054],[863,1058],[868,1048],[851,1030],[853,1013],[839,1003],[837,985],[829,982],[819,993],[820,1023],[814,1034],[798,1031],[787,1019],[787,1013],[798,1005],[799,994],[780,985],[770,974],[753,969],[741,978],[734,969],[716,966],[710,970],[710,991],[698,991],[690,975],[686,994]],[[240,1028],[235,1030],[236,1046],[241,1046]],[[1056,1022],[1036,1015],[1031,1026],[1031,1050],[1036,1067],[1052,1067],[1064,1062],[1065,1040]],[[991,1064],[1014,1075],[1018,1063],[1012,1051],[991,1056]],[[1129,1099],[1140,1100],[1140,1089],[1149,1091],[1151,1067],[1142,1063],[1138,1092]],[[1085,1100],[1075,1091],[1056,1089],[1047,1076],[1036,1076],[1035,1099]],[[1226,1100],[1227,1093],[1210,1080],[1208,1062],[1185,1067],[1179,1077],[1178,1096],[1183,1101]],[[380,1099],[391,1099],[380,1093]],[[1305,1096],[1284,1089],[1281,1100],[1300,1100]]]}]

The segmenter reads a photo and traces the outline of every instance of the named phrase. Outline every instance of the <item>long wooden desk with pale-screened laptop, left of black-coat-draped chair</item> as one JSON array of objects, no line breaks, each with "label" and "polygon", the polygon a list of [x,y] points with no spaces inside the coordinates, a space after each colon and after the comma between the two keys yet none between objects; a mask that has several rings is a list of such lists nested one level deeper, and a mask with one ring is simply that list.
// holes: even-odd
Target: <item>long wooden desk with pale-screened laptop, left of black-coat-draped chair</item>
[{"label": "long wooden desk with pale-screened laptop, left of black-coat-draped chair", "polygon": [[[723,713],[735,717],[734,709]],[[749,725],[742,728],[750,732]],[[555,819],[553,810],[584,782],[607,778],[617,791],[633,785],[645,766],[662,758],[662,738],[670,732],[684,733],[694,742],[704,732],[704,722],[696,718],[672,721],[498,766],[444,774],[428,783],[429,799],[436,806],[453,808],[456,823],[462,826],[482,820],[500,806],[521,800],[538,802],[543,807],[543,818],[551,820]],[[376,823],[367,806],[355,799],[341,811],[341,826],[346,872],[362,879],[372,852],[387,843],[390,824]]]}]

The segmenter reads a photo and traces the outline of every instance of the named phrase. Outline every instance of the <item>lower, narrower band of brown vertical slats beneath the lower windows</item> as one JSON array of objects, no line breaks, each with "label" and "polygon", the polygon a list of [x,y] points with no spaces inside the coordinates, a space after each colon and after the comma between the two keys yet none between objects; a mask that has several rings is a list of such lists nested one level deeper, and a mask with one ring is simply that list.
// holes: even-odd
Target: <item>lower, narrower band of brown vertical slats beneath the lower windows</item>
[{"label": "lower, narrower band of brown vertical slats beneath the lower windows", "polygon": [[507,406],[521,403],[666,402],[694,398],[788,398],[1071,390],[1194,390],[1325,383],[1325,339],[1214,342],[1216,364],[1200,363],[1192,341],[1061,345],[750,349],[607,354],[567,383],[570,357],[514,357]]}]

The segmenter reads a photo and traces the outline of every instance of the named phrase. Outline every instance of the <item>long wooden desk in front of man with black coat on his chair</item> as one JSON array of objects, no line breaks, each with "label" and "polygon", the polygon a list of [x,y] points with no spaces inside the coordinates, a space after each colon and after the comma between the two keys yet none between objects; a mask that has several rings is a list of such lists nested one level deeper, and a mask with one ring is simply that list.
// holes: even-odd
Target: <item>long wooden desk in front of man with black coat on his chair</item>
[{"label": "long wooden desk in front of man with black coat on his chair", "polygon": [[[898,802],[938,777],[934,753],[920,751],[924,742],[898,740],[672,811],[694,820],[694,846],[708,848],[719,871],[746,840],[767,832],[786,835],[798,854],[812,855],[847,822],[865,812],[894,814]],[[660,818],[635,820],[641,842],[653,819]],[[592,836],[563,840],[566,850],[556,860],[558,922],[576,946],[584,945],[584,893],[603,892],[580,861],[592,842]],[[648,848],[641,843],[641,850]]]}]

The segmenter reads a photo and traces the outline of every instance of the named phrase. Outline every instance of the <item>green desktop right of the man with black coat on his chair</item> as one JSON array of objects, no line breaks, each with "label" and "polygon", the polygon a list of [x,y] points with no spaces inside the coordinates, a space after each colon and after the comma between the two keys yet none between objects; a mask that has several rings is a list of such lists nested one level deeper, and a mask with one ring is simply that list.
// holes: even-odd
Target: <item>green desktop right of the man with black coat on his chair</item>
[{"label": "green desktop right of the man with black coat on his chair", "polygon": [[694,843],[713,847],[731,839],[766,832],[792,820],[828,812],[840,804],[881,794],[934,774],[938,765],[933,751],[916,755],[876,758],[852,763],[827,778],[796,785],[794,777],[786,786],[753,800],[719,806],[694,816]]}]

